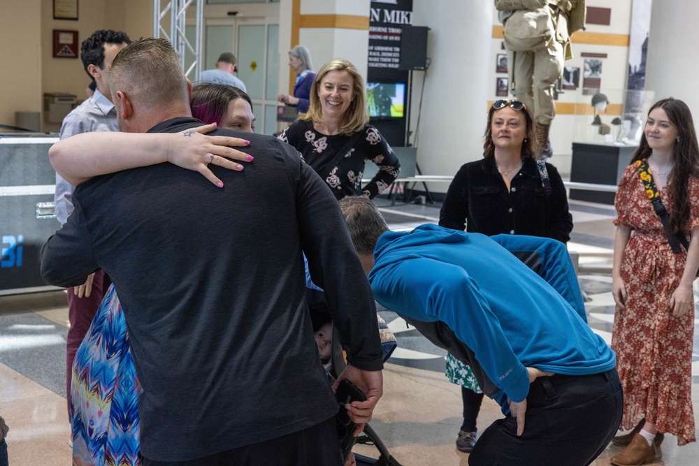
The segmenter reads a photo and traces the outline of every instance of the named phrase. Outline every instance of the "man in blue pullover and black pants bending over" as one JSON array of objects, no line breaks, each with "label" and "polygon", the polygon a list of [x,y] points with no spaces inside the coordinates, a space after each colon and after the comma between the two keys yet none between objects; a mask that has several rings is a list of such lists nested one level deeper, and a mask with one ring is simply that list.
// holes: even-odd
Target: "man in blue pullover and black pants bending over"
[{"label": "man in blue pullover and black pants bending over", "polygon": [[621,384],[565,245],[432,224],[394,232],[367,199],[340,208],[377,302],[470,364],[502,407],[469,465],[592,463],[619,427]]}]

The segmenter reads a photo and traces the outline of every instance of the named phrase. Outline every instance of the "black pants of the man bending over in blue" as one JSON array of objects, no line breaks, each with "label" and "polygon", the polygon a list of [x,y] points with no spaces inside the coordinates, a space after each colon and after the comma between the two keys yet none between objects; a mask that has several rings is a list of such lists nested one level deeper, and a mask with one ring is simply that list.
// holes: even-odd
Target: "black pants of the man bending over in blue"
[{"label": "black pants of the man bending over in blue", "polygon": [[470,466],[586,466],[607,447],[621,423],[624,402],[617,370],[539,377],[531,384],[524,433],[507,416],[487,428]]}]

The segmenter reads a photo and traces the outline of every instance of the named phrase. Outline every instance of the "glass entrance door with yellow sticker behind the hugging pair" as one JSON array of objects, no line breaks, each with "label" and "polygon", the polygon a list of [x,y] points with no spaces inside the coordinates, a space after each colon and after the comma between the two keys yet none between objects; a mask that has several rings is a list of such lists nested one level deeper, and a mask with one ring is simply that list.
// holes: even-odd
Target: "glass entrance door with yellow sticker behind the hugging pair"
[{"label": "glass entrance door with yellow sticker behind the hugging pair", "polygon": [[205,63],[212,68],[223,52],[238,59],[238,78],[245,83],[257,118],[255,131],[272,134],[277,130],[277,82],[279,75],[279,24],[265,18],[233,17],[210,19],[204,38]]}]

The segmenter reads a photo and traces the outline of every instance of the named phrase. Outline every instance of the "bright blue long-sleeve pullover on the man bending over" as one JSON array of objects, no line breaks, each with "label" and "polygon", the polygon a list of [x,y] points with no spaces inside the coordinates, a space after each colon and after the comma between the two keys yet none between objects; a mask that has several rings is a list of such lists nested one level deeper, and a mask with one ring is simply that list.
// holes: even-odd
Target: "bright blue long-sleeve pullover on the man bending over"
[{"label": "bright blue long-sleeve pullover on the man bending over", "polygon": [[[504,412],[507,398],[520,402],[528,394],[526,367],[568,375],[612,369],[614,352],[587,326],[582,303],[574,298],[572,307],[497,239],[432,224],[384,233],[369,274],[374,297],[399,315],[453,330],[499,388],[493,398]],[[508,249],[518,241],[531,249],[536,241],[545,254],[565,251],[547,238],[499,239]],[[570,291],[570,274],[561,272],[559,285]]]}]

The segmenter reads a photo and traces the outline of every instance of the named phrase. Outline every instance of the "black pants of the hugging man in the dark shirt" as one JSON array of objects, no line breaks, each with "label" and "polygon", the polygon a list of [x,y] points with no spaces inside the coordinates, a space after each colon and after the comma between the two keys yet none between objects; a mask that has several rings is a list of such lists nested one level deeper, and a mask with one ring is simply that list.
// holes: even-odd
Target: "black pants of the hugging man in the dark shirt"
[{"label": "black pants of the hugging man in the dark shirt", "polygon": [[[186,441],[186,439],[182,439]],[[163,462],[142,458],[143,466],[343,466],[335,416],[277,439],[222,451],[189,461]]]}]

